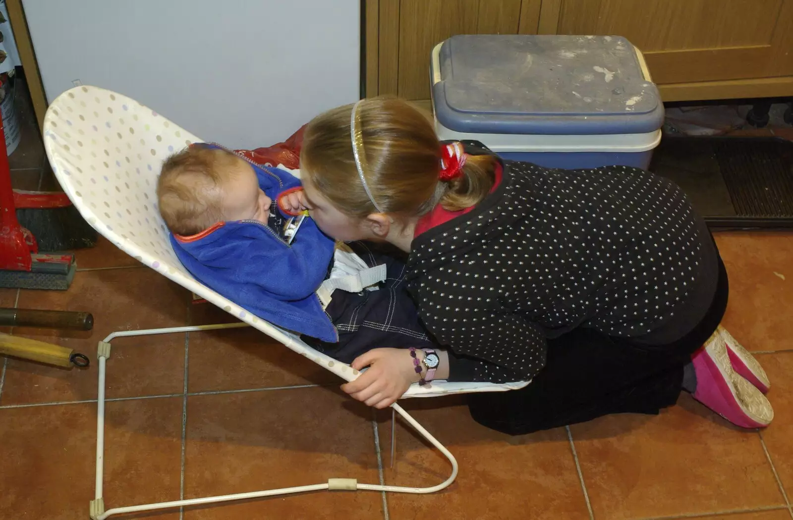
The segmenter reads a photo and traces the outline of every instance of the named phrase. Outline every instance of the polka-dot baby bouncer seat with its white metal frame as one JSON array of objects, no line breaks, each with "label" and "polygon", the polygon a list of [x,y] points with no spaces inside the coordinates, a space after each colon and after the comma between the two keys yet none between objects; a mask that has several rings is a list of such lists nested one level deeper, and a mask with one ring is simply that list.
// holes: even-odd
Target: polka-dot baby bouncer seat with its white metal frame
[{"label": "polka-dot baby bouncer seat with its white metal frame", "polygon": [[[312,349],[298,335],[284,331],[255,315],[251,315],[232,300],[224,298],[209,287],[202,285],[182,267],[170,246],[167,228],[159,216],[155,189],[163,159],[172,152],[179,151],[195,142],[201,142],[201,139],[185,129],[179,128],[177,124],[160,116],[154,110],[148,109],[122,94],[94,86],[78,86],[67,90],[53,101],[44,119],[44,147],[52,170],[83,218],[125,253],[241,320],[241,323],[117,331],[99,342],[97,352],[96,493],[95,499],[90,503],[90,517],[94,520],[103,520],[118,514],[305,491],[368,490],[431,493],[446,488],[457,476],[457,461],[448,449],[395,403],[393,411],[403,417],[450,461],[450,476],[442,483],[427,488],[411,488],[363,484],[358,483],[354,478],[343,477],[329,478],[327,482],[295,488],[128,507],[105,507],[102,498],[102,463],[105,452],[105,366],[110,358],[113,338],[255,327],[278,342],[282,342],[295,353],[308,357],[324,369],[335,373],[343,380],[350,381],[358,377],[358,372],[353,370],[350,365],[335,361]],[[509,384],[433,381],[432,384],[426,386],[413,384],[402,397],[432,397],[463,392],[497,392],[522,388],[526,384],[528,384],[527,381]]]}]

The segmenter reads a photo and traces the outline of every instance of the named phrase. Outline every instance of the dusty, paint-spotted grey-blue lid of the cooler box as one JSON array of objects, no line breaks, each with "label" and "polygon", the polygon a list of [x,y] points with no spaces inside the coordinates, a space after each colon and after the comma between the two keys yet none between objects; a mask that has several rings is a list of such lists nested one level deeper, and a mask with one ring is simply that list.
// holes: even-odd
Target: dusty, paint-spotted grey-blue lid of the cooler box
[{"label": "dusty, paint-spotted grey-blue lid of the cooler box", "polygon": [[457,132],[628,134],[663,124],[657,87],[620,36],[459,35],[433,61],[435,115]]}]

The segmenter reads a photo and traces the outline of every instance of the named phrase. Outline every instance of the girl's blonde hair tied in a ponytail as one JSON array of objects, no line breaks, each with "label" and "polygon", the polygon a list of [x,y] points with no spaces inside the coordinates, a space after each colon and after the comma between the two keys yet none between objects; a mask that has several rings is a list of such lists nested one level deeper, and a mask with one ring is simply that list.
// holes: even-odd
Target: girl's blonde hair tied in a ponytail
[{"label": "girl's blonde hair tied in a ponytail", "polygon": [[[305,129],[301,174],[339,211],[365,218],[377,213],[358,177],[350,135],[353,105],[315,117]],[[366,184],[382,212],[423,215],[442,205],[458,211],[478,204],[493,185],[496,159],[469,155],[462,175],[439,181],[441,144],[427,117],[407,101],[373,97],[358,105]]]}]

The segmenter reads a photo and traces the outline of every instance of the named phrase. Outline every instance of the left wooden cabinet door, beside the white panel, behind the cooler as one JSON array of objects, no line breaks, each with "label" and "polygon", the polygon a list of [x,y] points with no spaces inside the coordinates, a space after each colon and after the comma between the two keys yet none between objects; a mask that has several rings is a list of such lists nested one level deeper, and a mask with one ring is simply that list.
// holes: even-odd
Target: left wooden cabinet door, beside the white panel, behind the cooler
[{"label": "left wooden cabinet door, beside the white panel, behind the cooler", "polygon": [[[411,100],[429,98],[430,53],[436,44],[455,34],[535,34],[541,2],[542,0],[366,2],[366,95],[397,94]],[[375,37],[377,47],[372,42]],[[377,63],[372,58],[375,53]]]}]

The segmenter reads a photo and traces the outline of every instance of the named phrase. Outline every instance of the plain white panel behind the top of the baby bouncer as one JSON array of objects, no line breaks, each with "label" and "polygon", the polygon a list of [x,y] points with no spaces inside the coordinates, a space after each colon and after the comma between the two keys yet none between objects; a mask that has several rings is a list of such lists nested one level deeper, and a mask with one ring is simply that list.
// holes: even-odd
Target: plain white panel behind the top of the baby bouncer
[{"label": "plain white panel behind the top of the baby bouncer", "polygon": [[252,148],[358,99],[358,0],[23,5],[49,101],[79,79],[205,140]]}]

